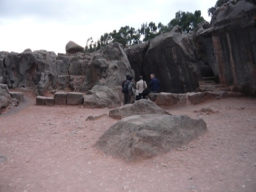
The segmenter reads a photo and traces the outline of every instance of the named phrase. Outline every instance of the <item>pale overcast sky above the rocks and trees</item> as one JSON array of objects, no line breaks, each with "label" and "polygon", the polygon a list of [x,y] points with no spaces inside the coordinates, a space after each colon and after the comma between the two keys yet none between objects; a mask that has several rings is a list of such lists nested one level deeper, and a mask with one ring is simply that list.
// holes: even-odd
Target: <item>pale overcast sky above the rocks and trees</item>
[{"label": "pale overcast sky above the rocks and trees", "polygon": [[0,51],[21,53],[25,49],[66,53],[73,41],[85,47],[104,33],[130,26],[141,28],[151,21],[167,25],[179,10],[207,9],[217,0],[0,0]]}]

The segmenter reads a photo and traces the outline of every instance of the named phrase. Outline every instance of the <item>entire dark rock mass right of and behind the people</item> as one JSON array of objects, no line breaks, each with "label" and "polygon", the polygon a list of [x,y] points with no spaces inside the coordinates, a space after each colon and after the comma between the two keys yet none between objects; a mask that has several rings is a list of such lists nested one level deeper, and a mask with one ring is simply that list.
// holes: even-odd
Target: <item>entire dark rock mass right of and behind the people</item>
[{"label": "entire dark rock mass right of and behind the people", "polygon": [[212,77],[256,96],[255,34],[255,1],[233,1],[214,12],[210,25],[199,23],[189,34],[177,26],[126,53],[136,79],[142,75],[149,83],[154,73],[161,92],[192,92]]}]

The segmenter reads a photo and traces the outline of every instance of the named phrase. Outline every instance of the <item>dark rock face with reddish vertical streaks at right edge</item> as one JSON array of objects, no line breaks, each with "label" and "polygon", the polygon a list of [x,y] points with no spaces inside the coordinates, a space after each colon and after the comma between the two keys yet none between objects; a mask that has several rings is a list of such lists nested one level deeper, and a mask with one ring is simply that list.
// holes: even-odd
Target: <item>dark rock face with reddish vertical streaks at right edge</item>
[{"label": "dark rock face with reddish vertical streaks at right edge", "polygon": [[249,2],[220,7],[210,28],[199,36],[215,79],[234,85],[235,91],[256,95],[256,6]]}]

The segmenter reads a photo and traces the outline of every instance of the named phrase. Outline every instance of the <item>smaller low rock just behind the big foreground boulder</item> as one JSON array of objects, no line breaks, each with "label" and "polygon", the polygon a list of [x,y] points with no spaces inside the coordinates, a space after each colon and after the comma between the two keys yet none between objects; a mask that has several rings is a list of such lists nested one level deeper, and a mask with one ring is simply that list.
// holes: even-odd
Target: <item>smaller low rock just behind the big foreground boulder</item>
[{"label": "smaller low rock just behind the big foreground boulder", "polygon": [[124,105],[109,111],[109,117],[121,119],[132,115],[164,114],[171,115],[169,112],[158,107],[153,101],[141,99],[133,104]]}]

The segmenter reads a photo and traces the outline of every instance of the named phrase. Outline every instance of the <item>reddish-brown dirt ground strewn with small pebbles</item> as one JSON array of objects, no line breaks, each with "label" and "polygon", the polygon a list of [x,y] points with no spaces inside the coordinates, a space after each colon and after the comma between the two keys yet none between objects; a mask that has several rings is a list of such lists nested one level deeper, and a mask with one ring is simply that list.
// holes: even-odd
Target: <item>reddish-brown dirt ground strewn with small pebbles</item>
[{"label": "reddish-brown dirt ground strewn with small pebbles", "polygon": [[[256,191],[255,98],[165,107],[203,118],[207,133],[179,150],[127,163],[93,147],[117,122],[109,109],[36,106],[32,93],[24,96],[0,115],[1,192]],[[102,117],[86,121],[91,115]]]}]

